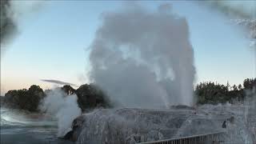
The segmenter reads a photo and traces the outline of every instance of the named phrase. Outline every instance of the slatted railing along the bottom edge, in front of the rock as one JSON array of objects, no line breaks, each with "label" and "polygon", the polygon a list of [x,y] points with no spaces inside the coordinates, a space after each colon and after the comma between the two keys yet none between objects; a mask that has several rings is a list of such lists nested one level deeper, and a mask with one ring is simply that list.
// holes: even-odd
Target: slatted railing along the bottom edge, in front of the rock
[{"label": "slatted railing along the bottom edge, in front of the rock", "polygon": [[220,144],[224,143],[223,134],[225,134],[225,132],[215,132],[188,137],[170,138],[154,142],[141,142],[139,144]]}]

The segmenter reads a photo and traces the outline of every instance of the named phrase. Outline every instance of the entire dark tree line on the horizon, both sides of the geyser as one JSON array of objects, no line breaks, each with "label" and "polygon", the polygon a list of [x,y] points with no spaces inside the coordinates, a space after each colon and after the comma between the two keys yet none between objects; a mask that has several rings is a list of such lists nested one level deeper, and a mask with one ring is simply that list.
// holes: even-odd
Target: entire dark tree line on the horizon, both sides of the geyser
[{"label": "entire dark tree line on the horizon, both sides of the geyser", "polygon": [[[111,102],[106,94],[94,84],[85,84],[75,90],[71,86],[62,86],[60,89],[66,96],[77,94],[78,106],[82,111],[94,109],[95,107],[111,107]],[[254,93],[250,91],[255,90]],[[1,105],[12,108],[38,111],[38,106],[42,99],[46,97],[51,90],[42,90],[40,86],[30,86],[28,90],[9,90],[5,97],[1,97]],[[247,97],[256,97],[256,78],[247,78],[241,85],[226,86],[217,82],[200,82],[194,90],[196,104],[218,104],[244,102]]]}]

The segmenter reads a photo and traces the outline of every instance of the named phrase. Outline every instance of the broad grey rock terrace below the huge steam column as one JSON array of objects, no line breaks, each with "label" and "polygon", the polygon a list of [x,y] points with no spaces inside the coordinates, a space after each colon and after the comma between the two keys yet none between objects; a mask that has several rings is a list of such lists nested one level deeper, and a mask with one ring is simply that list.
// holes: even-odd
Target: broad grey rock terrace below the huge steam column
[{"label": "broad grey rock terrace below the huge steam column", "polygon": [[[94,110],[73,123],[78,143],[136,143],[224,132],[226,142],[253,143],[242,106],[202,106],[197,110]],[[226,128],[222,128],[226,121]]]}]

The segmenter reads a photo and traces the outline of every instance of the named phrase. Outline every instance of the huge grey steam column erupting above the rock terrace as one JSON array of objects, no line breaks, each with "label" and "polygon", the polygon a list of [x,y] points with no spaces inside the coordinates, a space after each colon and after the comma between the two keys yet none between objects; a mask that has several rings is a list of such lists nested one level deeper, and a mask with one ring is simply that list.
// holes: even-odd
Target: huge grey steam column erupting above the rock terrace
[{"label": "huge grey steam column erupting above the rock terrace", "polygon": [[90,78],[122,106],[159,108],[193,103],[194,51],[185,18],[158,6],[102,15],[90,48]]}]

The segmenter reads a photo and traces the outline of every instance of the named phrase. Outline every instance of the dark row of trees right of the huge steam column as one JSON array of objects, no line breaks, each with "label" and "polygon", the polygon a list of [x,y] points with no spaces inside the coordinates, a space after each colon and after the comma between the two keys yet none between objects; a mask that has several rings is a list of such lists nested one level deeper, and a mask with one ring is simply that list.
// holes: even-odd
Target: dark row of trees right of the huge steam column
[{"label": "dark row of trees right of the huge steam column", "polygon": [[218,104],[244,102],[245,98],[253,97],[249,91],[256,89],[256,78],[246,78],[243,84],[238,86],[221,85],[217,82],[200,82],[194,90],[197,104]]}]

